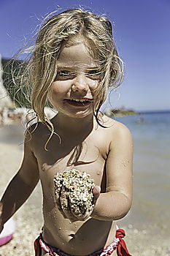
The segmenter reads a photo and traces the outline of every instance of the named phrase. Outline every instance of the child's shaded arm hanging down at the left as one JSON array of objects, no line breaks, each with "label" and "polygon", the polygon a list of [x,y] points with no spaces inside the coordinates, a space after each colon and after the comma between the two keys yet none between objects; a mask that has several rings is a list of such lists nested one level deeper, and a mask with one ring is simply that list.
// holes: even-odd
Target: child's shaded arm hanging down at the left
[{"label": "child's shaded arm hanging down at the left", "polygon": [[28,199],[39,181],[39,168],[31,151],[30,141],[24,144],[23,162],[18,173],[10,181],[0,202],[0,233],[4,223]]}]

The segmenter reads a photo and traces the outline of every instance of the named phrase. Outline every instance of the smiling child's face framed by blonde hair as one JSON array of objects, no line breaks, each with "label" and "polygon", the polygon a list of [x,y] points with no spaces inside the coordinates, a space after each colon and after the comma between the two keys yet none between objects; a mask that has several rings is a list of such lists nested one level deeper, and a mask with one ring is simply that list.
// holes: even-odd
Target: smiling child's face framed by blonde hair
[{"label": "smiling child's face framed by blonde hair", "polygon": [[50,102],[63,115],[83,118],[93,113],[93,95],[100,68],[83,39],[65,45],[59,55],[58,72],[50,91]]}]

